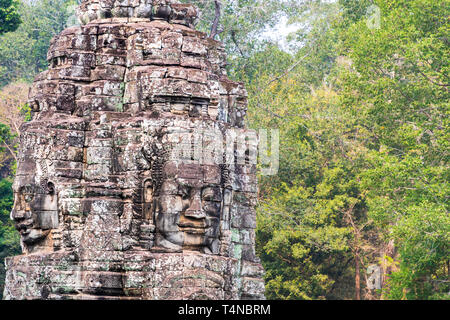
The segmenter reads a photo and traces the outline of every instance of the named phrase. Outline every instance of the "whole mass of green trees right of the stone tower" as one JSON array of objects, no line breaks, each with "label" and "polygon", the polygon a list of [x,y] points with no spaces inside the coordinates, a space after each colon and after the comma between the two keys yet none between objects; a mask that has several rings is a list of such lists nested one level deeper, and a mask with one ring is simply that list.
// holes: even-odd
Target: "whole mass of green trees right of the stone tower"
[{"label": "whole mass of green trees right of the stone tower", "polygon": [[281,131],[258,211],[267,295],[379,298],[365,269],[387,259],[382,297],[448,298],[450,2],[339,4],[293,56],[264,54],[291,67],[247,78],[251,125]]}]

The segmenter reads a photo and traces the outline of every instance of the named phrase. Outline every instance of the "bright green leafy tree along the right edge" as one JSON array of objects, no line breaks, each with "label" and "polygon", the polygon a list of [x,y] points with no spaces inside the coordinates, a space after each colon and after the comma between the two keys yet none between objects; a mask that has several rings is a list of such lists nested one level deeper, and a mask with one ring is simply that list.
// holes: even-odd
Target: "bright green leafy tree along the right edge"
[{"label": "bright green leafy tree along the right edge", "polygon": [[427,299],[448,292],[450,1],[376,4],[380,28],[358,21],[343,35],[342,105],[369,130],[361,188],[398,249],[386,294]]}]

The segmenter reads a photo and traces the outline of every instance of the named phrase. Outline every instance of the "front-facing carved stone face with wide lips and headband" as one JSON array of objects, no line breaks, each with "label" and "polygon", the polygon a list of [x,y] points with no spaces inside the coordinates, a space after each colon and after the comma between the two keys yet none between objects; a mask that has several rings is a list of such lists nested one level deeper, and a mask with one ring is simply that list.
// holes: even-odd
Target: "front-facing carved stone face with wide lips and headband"
[{"label": "front-facing carved stone face with wide lips and headband", "polygon": [[166,179],[155,201],[157,245],[217,254],[222,212],[220,167],[164,166]]}]

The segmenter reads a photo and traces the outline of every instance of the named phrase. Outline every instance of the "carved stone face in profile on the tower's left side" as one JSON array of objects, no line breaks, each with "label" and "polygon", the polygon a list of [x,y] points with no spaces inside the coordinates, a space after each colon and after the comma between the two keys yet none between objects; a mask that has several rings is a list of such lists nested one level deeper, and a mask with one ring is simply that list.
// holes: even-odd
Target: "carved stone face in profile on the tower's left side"
[{"label": "carved stone face in profile on the tower's left side", "polygon": [[58,201],[55,186],[45,181],[36,184],[34,177],[18,175],[13,184],[14,207],[11,218],[22,243],[28,246],[42,242],[51,229],[58,227]]}]

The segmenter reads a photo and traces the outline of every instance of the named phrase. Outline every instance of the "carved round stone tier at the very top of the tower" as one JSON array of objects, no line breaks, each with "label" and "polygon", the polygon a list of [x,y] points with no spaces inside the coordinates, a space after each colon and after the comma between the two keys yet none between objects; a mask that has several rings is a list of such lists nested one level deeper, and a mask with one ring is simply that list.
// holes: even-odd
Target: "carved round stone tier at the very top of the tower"
[{"label": "carved round stone tier at the very top of the tower", "polygon": [[197,19],[197,9],[191,4],[176,0],[84,0],[77,9],[82,24],[96,20],[114,18],[134,18],[165,20],[170,23],[193,27]]}]

